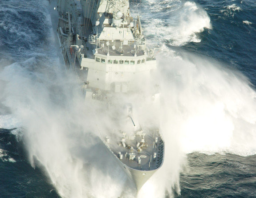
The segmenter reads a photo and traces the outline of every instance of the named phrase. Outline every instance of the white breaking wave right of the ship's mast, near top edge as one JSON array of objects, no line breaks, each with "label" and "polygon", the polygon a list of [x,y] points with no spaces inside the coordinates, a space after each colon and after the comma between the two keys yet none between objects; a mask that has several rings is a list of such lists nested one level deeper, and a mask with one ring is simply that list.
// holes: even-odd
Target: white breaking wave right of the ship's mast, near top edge
[{"label": "white breaking wave right of the ship's mast, near top edge", "polygon": [[198,33],[211,28],[207,12],[193,1],[155,0],[143,6],[134,5],[133,9],[146,15],[141,20],[149,44],[159,45],[163,40],[174,46],[200,42]]}]

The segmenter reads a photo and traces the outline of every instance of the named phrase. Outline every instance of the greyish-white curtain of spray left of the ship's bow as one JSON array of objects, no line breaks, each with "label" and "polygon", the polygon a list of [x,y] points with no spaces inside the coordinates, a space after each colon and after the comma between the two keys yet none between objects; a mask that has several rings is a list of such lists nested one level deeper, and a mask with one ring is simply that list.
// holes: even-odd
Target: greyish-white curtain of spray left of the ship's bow
[{"label": "greyish-white curtain of spray left of the ship's bow", "polygon": [[1,73],[4,80],[12,79],[4,105],[24,127],[31,165],[44,167],[62,197],[126,194],[127,178],[99,138],[96,125],[101,125],[101,117],[93,104],[84,102],[76,77],[53,64],[30,73],[34,64],[12,64]]}]

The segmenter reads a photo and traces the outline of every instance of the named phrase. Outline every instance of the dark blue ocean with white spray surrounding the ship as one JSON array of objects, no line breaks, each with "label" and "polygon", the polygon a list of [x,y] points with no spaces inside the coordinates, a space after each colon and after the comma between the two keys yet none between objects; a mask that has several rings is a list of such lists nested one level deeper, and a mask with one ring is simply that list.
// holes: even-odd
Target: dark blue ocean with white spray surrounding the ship
[{"label": "dark blue ocean with white spray surrounding the ship", "polygon": [[[0,198],[134,198],[94,132],[104,121],[61,64],[52,8],[0,1]],[[155,48],[166,144],[138,197],[255,198],[256,2],[132,0],[130,10]]]}]

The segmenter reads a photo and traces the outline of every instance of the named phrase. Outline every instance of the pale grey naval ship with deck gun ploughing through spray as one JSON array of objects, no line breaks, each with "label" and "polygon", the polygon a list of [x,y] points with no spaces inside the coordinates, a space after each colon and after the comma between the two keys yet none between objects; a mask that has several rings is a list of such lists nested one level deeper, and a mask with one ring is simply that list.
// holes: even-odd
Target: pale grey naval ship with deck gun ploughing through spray
[{"label": "pale grey naval ship with deck gun ploughing through spray", "polygon": [[159,103],[157,85],[150,85],[154,50],[146,47],[140,16],[131,16],[128,0],[57,0],[57,12],[66,70],[77,75],[85,102],[109,115],[113,125],[99,137],[138,193],[164,160],[159,123],[139,113]]}]

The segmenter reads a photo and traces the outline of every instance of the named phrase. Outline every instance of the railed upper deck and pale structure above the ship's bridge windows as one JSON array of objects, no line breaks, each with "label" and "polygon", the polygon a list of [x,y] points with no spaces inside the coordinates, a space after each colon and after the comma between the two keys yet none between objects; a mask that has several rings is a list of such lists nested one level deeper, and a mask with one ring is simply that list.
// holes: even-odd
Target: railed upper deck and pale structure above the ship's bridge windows
[{"label": "railed upper deck and pale structure above the ship's bridge windows", "polygon": [[[109,19],[109,16],[105,16],[105,21]],[[88,21],[89,19],[84,18],[81,24],[89,23]],[[95,34],[91,34],[89,31],[93,28],[90,23],[86,27],[81,28],[81,31],[82,35],[88,39],[86,46],[89,48],[89,52],[87,51],[87,53],[91,53],[94,49],[93,53],[104,56],[139,57],[145,55],[145,38],[143,36],[137,38],[132,36],[134,33],[127,24],[115,27],[108,22],[104,22],[103,29],[99,33],[98,27],[94,26],[94,31],[97,32]]]}]

